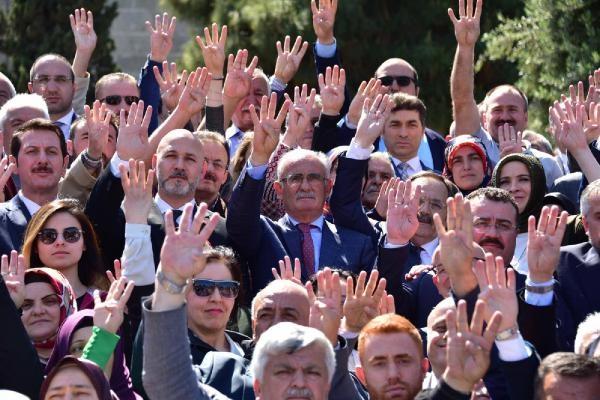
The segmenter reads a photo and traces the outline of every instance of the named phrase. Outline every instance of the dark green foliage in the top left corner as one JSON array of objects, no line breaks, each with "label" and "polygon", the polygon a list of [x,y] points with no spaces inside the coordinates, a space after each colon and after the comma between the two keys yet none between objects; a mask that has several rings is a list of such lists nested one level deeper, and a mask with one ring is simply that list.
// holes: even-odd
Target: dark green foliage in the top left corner
[{"label": "dark green foliage in the top left corner", "polygon": [[88,68],[91,75],[88,98],[94,97],[96,80],[116,70],[111,56],[115,45],[110,38],[110,26],[117,16],[116,3],[106,0],[13,0],[7,12],[0,14],[0,21],[3,21],[0,48],[8,56],[2,71],[11,78],[18,92],[27,91],[29,69],[40,55],[58,53],[73,59],[75,40],[69,14],[81,6],[94,14],[94,30],[98,36]]}]

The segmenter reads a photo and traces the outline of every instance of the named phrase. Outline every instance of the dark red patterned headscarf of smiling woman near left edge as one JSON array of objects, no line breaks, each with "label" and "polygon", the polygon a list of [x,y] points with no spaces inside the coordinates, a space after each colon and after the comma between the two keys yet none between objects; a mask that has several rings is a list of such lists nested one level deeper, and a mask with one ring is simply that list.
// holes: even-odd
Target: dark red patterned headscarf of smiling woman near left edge
[{"label": "dark red patterned headscarf of smiling woman near left edge", "polygon": [[41,342],[33,342],[36,349],[51,349],[54,347],[56,335],[67,317],[77,311],[75,292],[69,281],[59,271],[52,268],[31,268],[25,271],[25,285],[33,282],[44,282],[52,286],[60,299],[60,318],[56,332],[52,337]]}]

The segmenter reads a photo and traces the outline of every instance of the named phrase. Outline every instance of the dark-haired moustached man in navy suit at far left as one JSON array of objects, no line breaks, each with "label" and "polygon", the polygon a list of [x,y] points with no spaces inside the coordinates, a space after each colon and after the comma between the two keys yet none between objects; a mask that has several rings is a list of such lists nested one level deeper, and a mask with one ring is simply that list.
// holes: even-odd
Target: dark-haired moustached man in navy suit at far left
[{"label": "dark-haired moustached man in navy suit at far left", "polygon": [[20,250],[27,223],[41,206],[56,199],[60,178],[69,162],[62,132],[40,118],[15,131],[11,154],[21,190],[10,201],[0,204],[0,254]]}]

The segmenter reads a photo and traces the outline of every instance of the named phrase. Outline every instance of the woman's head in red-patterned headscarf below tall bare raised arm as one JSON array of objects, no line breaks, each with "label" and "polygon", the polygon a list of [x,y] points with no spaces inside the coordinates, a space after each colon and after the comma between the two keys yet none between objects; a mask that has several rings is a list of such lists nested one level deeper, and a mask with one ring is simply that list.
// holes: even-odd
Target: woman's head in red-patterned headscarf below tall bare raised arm
[{"label": "woman's head in red-patterned headscarf below tall bare raised arm", "polygon": [[454,182],[463,195],[487,186],[491,171],[481,140],[463,135],[448,142],[443,175]]}]

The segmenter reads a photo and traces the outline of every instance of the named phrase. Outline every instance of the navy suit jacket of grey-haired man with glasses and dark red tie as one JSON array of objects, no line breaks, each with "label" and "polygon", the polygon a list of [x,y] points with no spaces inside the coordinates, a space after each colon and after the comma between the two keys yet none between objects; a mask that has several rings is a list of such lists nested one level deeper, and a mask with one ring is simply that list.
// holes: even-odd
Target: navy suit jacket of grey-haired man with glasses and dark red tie
[{"label": "navy suit jacket of grey-haired man with glasses and dark red tie", "polygon": [[[273,280],[271,268],[284,256],[302,259],[302,233],[291,225],[287,216],[273,221],[260,215],[264,185],[264,178],[253,179],[243,171],[227,210],[227,232],[234,249],[249,264],[253,294]],[[319,254],[318,267],[331,266],[357,273],[370,270],[375,260],[375,248],[367,236],[327,221],[323,223]]]}]

